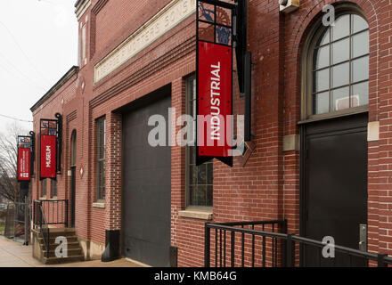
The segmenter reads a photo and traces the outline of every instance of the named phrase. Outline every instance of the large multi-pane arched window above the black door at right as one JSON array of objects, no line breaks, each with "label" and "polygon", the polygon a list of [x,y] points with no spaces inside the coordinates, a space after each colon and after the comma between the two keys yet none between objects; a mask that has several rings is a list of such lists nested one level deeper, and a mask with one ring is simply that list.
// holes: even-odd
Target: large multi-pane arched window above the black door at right
[{"label": "large multi-pane arched window above the black door at right", "polygon": [[306,118],[369,104],[369,25],[361,12],[337,9],[334,25],[317,25],[306,48]]}]

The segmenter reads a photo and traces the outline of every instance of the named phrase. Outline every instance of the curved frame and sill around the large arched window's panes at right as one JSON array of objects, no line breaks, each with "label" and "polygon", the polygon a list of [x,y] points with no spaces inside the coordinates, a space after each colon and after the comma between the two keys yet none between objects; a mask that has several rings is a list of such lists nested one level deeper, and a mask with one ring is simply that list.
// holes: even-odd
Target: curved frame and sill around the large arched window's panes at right
[{"label": "curved frame and sill around the large arched window's panes at right", "polygon": [[[339,4],[335,6],[335,19],[344,14],[356,14],[367,21],[363,11],[356,4]],[[307,34],[304,42],[301,60],[301,121],[313,121],[324,118],[335,118],[347,116],[349,114],[363,113],[369,110],[369,105],[353,107],[346,110],[336,110],[323,114],[313,113],[313,87],[314,87],[314,48],[317,40],[323,36],[324,31],[328,28],[323,26],[323,16],[318,17],[313,27]]]}]

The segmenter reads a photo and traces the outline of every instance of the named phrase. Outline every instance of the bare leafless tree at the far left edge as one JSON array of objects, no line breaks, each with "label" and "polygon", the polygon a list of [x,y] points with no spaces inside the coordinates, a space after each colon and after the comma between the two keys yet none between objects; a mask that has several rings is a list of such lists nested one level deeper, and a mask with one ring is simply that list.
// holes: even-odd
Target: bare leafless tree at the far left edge
[{"label": "bare leafless tree at the far left edge", "polygon": [[18,135],[27,134],[16,122],[0,133],[0,196],[15,201],[19,196],[17,180]]}]

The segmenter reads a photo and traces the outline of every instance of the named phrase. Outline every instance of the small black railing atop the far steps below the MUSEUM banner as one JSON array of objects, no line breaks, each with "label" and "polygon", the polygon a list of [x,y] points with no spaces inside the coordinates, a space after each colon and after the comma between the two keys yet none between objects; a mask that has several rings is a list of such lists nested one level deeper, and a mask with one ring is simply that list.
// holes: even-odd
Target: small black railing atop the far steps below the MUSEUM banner
[{"label": "small black railing atop the far steps below the MUSEUM banner", "polygon": [[[33,213],[34,213],[34,226],[40,222],[39,208],[42,208],[43,215],[48,225],[54,226],[64,226],[68,227],[68,199],[40,199],[35,200],[33,203]],[[36,217],[37,223],[36,223]]]}]

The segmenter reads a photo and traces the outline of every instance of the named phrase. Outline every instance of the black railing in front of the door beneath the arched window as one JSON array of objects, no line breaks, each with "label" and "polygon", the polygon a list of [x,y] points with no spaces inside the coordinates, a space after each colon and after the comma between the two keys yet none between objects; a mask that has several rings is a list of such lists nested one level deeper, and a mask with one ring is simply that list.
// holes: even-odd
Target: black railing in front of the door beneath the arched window
[{"label": "black railing in front of the door beneath the arched window", "polygon": [[[213,233],[211,233],[213,231]],[[280,231],[280,232],[276,232]],[[392,265],[392,257],[327,244],[287,233],[287,221],[205,224],[205,266],[294,267]],[[327,248],[328,249],[328,248]]]}]

